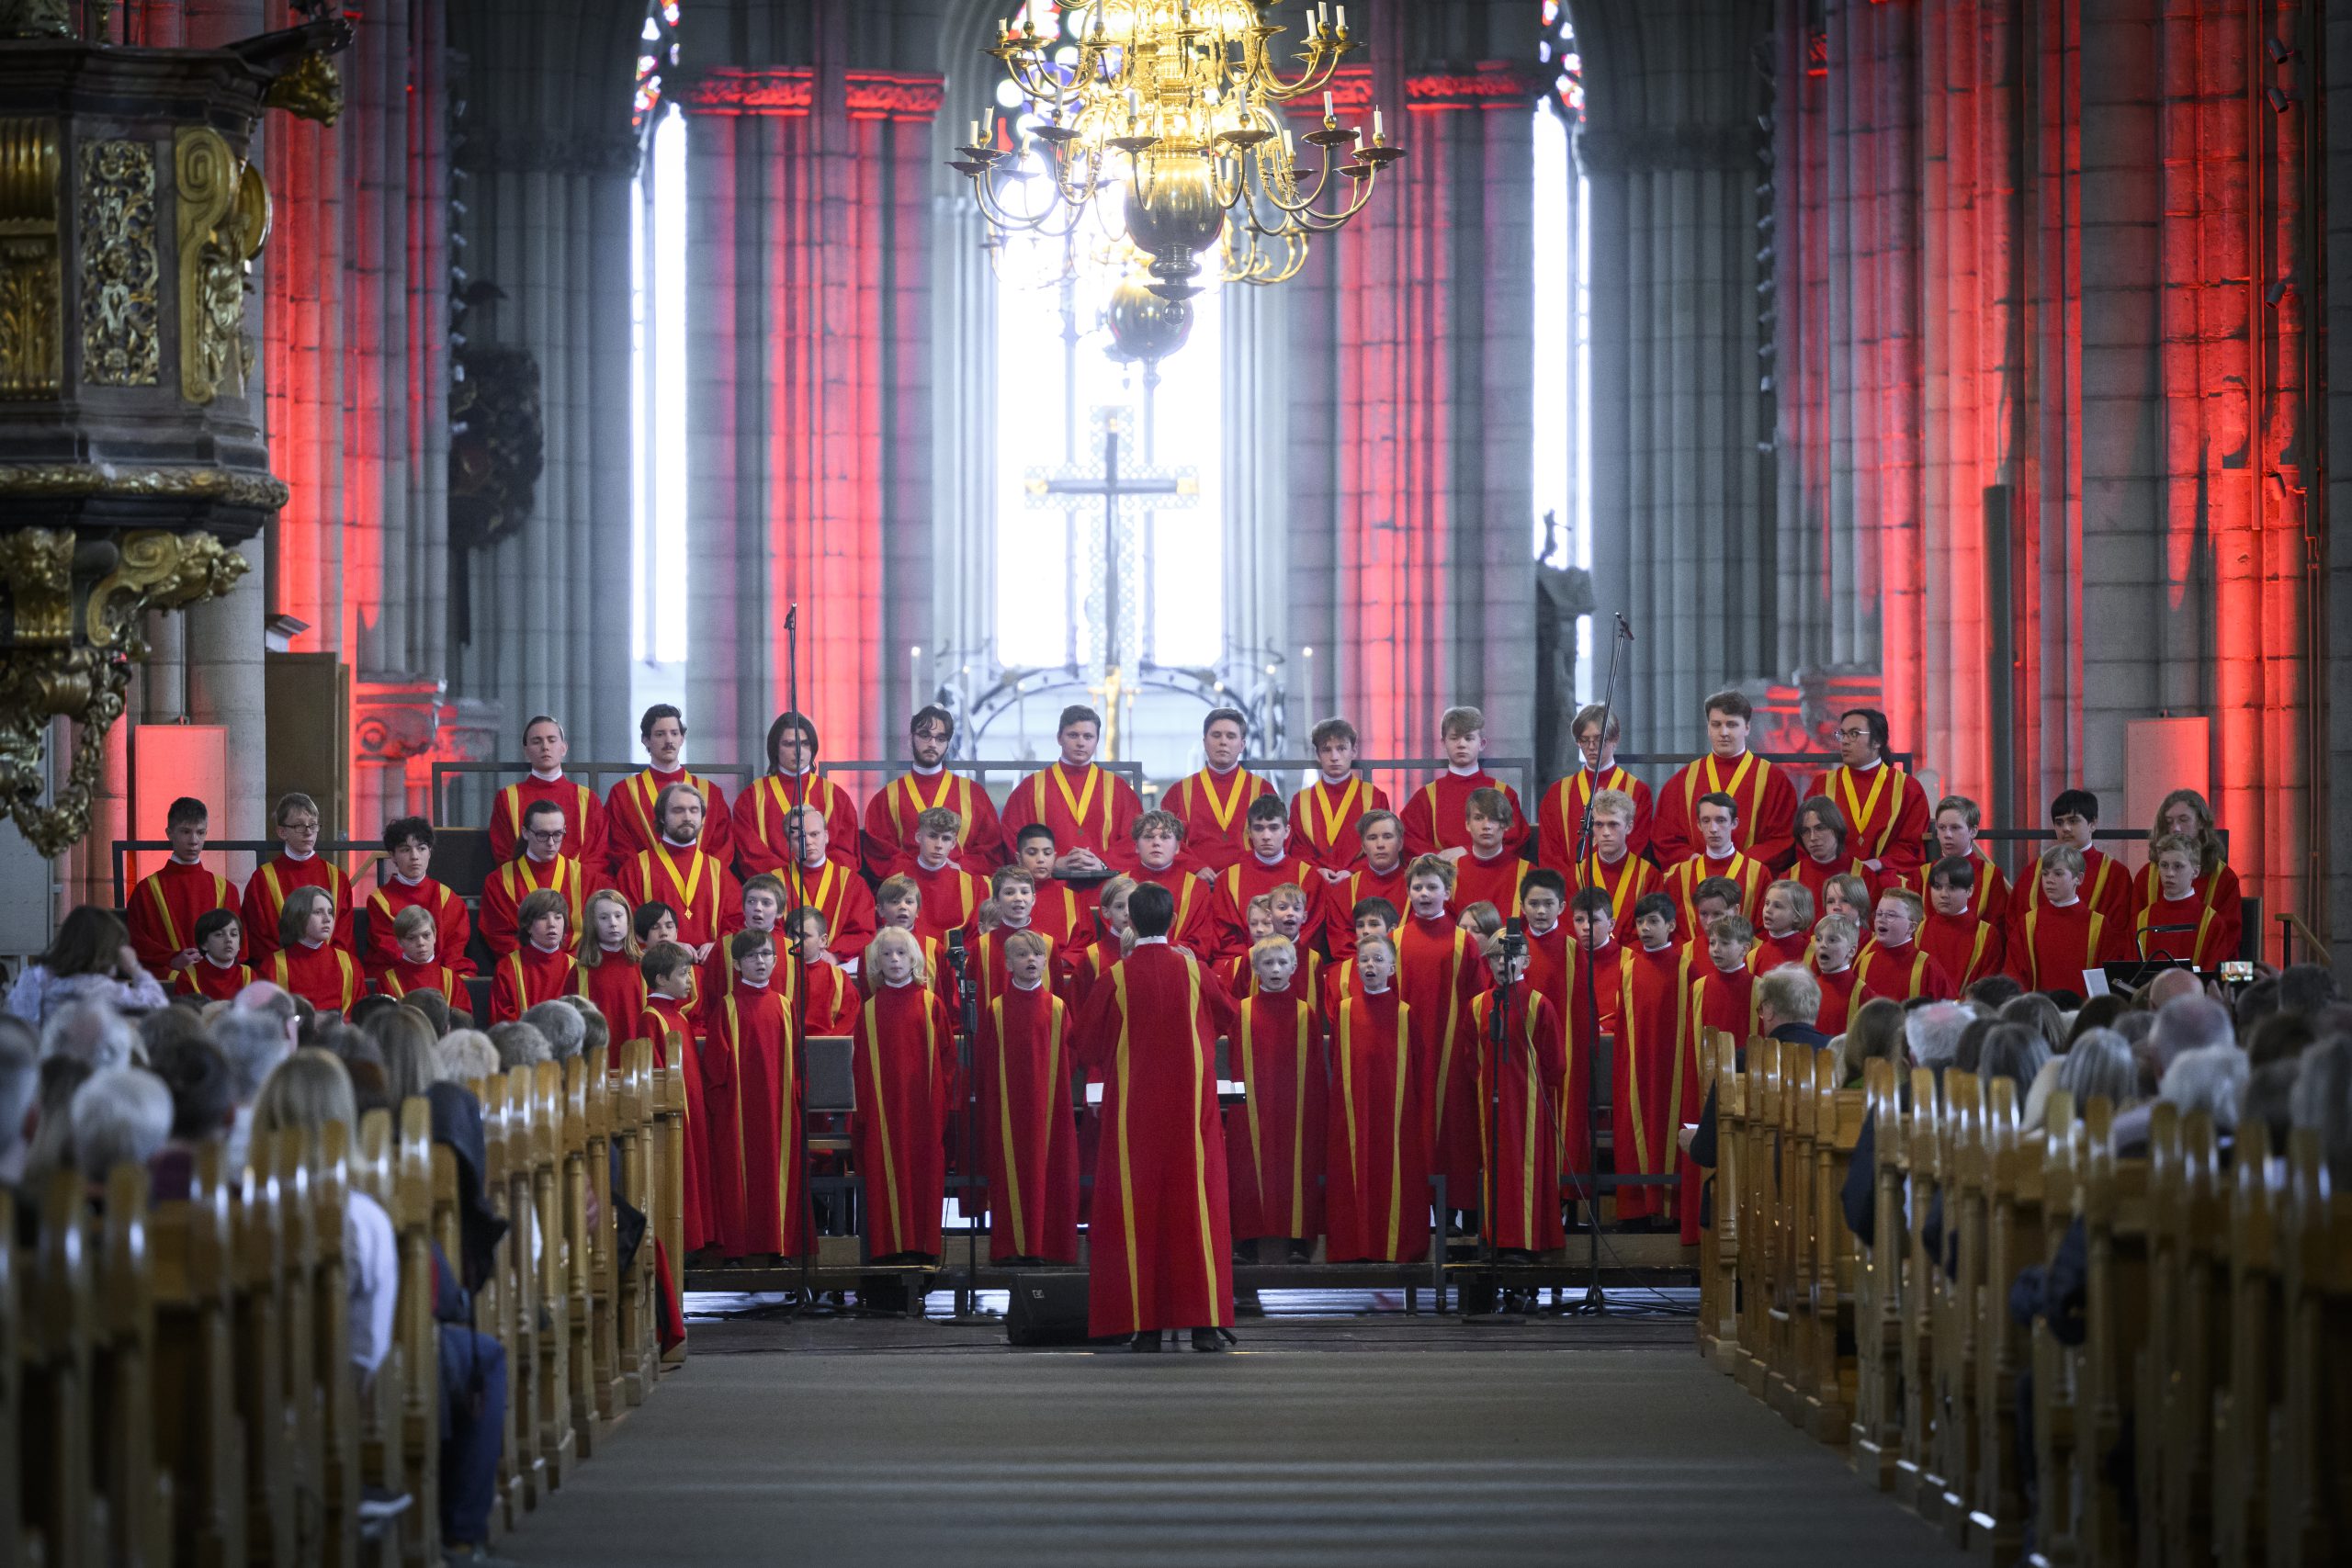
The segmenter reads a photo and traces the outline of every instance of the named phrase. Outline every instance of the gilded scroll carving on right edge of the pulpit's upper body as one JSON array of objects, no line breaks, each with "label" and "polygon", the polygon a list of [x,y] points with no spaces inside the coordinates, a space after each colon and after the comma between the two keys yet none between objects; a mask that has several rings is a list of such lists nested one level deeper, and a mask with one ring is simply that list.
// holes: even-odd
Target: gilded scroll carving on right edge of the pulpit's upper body
[{"label": "gilded scroll carving on right edge of the pulpit's upper body", "polygon": [[212,127],[172,141],[179,183],[179,393],[188,402],[242,393],[254,350],[245,341],[245,263],[268,240],[268,190]]}]

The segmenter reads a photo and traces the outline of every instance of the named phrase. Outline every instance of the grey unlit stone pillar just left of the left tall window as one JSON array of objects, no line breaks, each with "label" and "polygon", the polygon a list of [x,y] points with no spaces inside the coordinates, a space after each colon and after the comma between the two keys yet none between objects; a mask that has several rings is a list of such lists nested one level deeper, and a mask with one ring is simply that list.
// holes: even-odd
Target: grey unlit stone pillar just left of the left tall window
[{"label": "grey unlit stone pillar just left of the left tall window", "polygon": [[[503,712],[503,729],[560,715],[581,762],[635,755],[628,186],[642,26],[642,0],[449,12],[466,68],[463,263],[470,280],[506,292],[468,313],[468,331],[532,350],[543,418],[529,520],[463,562],[473,639],[452,649],[452,689]],[[520,736],[506,733],[501,752],[520,755]]]}]

